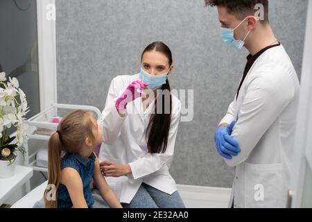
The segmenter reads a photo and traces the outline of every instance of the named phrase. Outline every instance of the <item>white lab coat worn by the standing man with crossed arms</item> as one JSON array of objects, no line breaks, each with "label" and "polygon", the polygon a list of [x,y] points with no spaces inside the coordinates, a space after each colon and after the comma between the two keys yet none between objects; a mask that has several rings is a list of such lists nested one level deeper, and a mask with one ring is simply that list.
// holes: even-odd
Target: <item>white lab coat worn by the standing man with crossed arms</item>
[{"label": "white lab coat worn by the standing man with crossed arms", "polygon": [[234,207],[286,207],[299,92],[284,46],[268,49],[254,62],[220,121],[237,121],[232,137],[241,147],[238,156],[225,160],[235,167],[230,205],[234,198]]}]

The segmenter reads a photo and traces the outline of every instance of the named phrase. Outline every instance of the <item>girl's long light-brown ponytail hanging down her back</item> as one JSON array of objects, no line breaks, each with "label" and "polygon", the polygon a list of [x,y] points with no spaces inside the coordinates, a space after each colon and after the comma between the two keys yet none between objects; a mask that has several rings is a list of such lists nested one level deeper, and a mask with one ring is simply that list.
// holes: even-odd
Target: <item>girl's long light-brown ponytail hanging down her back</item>
[{"label": "girl's long light-brown ponytail hanging down her back", "polygon": [[[48,187],[53,185],[52,190],[46,189],[44,191],[44,205],[46,208],[57,208],[58,207],[58,186],[60,185],[61,179],[61,155],[62,155],[62,144],[60,133],[53,133],[49,139],[49,181]],[[55,187],[54,187],[55,186]],[[55,188],[55,189],[54,189]],[[50,191],[55,194],[50,195]]]}]

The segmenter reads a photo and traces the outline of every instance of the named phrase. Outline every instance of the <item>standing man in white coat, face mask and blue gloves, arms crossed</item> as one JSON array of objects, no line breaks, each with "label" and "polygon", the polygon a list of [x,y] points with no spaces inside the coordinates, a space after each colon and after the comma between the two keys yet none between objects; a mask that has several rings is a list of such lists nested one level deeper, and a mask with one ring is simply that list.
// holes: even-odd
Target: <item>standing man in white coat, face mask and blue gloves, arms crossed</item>
[{"label": "standing man in white coat, face mask and blue gloves, arms crossed", "polygon": [[215,133],[218,153],[235,167],[229,206],[286,207],[300,84],[270,27],[268,0],[205,2],[218,8],[223,41],[250,52]]}]

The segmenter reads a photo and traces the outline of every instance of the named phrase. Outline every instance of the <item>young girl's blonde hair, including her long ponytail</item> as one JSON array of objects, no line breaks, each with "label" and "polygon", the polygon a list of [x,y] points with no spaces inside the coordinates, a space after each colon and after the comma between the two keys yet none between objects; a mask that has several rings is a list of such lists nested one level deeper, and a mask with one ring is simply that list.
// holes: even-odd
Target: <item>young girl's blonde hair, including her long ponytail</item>
[{"label": "young girl's blonde hair, including her long ponytail", "polygon": [[[93,121],[92,121],[93,119]],[[76,110],[67,114],[60,124],[58,131],[53,133],[49,139],[49,182],[48,185],[55,186],[55,200],[46,198],[49,192],[44,191],[44,205],[46,208],[58,207],[58,187],[61,179],[62,151],[65,153],[77,153],[89,137],[92,143],[95,140],[94,129],[96,119],[92,112]],[[50,199],[50,198],[49,198]]]}]

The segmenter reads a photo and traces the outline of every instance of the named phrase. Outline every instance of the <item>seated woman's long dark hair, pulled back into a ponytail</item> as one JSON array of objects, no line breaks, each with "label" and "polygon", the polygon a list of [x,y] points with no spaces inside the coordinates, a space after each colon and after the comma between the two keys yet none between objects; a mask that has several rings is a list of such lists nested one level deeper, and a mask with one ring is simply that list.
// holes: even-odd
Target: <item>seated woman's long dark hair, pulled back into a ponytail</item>
[{"label": "seated woman's long dark hair, pulled back into a ponytail", "polygon": [[[168,58],[169,66],[173,64],[172,53],[166,44],[163,42],[153,42],[149,44],[146,49],[144,49],[141,60],[143,59],[144,53],[148,51],[158,51],[163,53],[164,56]],[[166,80],[166,84],[162,85],[162,90],[168,90],[171,92],[171,88]],[[148,123],[148,128],[146,130],[146,137],[148,137],[148,152],[149,153],[164,153],[166,152],[167,144],[168,144],[168,136],[171,125],[171,112],[172,112],[172,99],[170,94],[170,101],[168,103],[168,97],[164,94],[159,94],[162,96],[162,113],[157,114],[157,98],[155,99],[155,113],[153,113],[150,117],[150,121]],[[170,112],[165,112],[165,105],[170,104]]]}]

